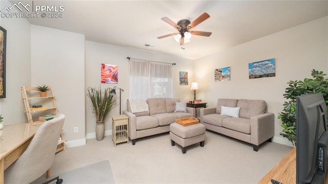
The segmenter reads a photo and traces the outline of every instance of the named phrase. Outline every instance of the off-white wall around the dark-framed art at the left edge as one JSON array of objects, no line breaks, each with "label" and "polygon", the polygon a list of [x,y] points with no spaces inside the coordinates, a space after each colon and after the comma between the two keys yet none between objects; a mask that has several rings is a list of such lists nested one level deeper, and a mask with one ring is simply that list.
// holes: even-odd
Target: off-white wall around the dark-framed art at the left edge
[{"label": "off-white wall around the dark-framed art at the left edge", "polygon": [[[10,6],[8,1],[0,1],[1,10]],[[6,98],[0,99],[0,114],[5,125],[26,123],[20,87],[31,83],[30,23],[25,18],[0,18],[0,26],[7,30]]]}]

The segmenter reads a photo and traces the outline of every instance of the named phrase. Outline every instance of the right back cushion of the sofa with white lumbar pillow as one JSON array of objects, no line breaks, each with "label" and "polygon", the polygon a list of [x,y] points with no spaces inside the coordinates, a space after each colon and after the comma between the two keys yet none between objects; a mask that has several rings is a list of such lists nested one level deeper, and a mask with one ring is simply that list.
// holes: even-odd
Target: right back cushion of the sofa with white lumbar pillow
[{"label": "right back cushion of the sofa with white lumbar pillow", "polygon": [[267,109],[267,103],[265,103],[264,100],[239,99],[237,106],[240,107],[239,117],[248,119],[258,114],[265,113]]}]

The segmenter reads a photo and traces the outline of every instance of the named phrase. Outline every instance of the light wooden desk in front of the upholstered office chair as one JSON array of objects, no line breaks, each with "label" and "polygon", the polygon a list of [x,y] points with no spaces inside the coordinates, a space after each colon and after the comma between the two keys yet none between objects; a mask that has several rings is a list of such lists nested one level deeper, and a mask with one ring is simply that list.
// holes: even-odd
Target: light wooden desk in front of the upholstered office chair
[{"label": "light wooden desk in front of the upholstered office chair", "polygon": [[4,171],[23,154],[39,125],[30,123],[6,125],[0,130],[0,184]]}]

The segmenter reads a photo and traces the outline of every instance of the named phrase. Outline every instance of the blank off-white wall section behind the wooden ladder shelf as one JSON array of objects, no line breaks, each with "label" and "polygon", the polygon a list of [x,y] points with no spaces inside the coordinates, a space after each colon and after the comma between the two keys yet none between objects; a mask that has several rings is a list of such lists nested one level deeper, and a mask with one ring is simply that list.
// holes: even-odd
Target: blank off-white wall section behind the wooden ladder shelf
[{"label": "blank off-white wall section behind the wooden ladder shelf", "polygon": [[80,144],[85,143],[84,68],[84,35],[31,25],[31,86],[52,86],[58,113],[66,115],[64,137]]}]

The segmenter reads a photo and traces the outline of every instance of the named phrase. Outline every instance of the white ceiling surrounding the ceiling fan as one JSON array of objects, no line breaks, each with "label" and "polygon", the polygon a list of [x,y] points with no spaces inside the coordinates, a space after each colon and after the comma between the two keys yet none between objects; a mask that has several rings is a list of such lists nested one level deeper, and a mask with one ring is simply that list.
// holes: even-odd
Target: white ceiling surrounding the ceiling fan
[{"label": "white ceiling surrounding the ceiling fan", "polygon": [[[17,3],[19,1],[10,1]],[[31,2],[31,1],[30,1]],[[34,1],[35,5],[64,5],[63,18],[31,18],[33,25],[84,34],[86,40],[197,59],[328,15],[328,1]],[[177,30],[162,21],[169,17],[194,20],[211,17],[193,30],[212,32],[192,36],[181,49]],[[144,44],[156,45],[146,48]]]}]

